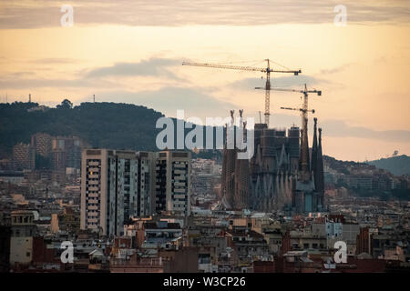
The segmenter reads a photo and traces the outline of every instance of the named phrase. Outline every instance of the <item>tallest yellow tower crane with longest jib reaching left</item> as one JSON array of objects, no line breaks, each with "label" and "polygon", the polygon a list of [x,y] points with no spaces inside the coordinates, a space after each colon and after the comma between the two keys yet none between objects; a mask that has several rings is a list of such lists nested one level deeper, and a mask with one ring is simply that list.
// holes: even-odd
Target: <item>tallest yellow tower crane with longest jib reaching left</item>
[{"label": "tallest yellow tower crane with longest jib reaching left", "polygon": [[205,66],[214,67],[219,69],[231,69],[231,70],[241,70],[241,71],[253,71],[266,73],[266,85],[265,89],[265,124],[269,127],[269,116],[271,115],[270,105],[271,105],[271,73],[292,73],[293,75],[299,75],[302,73],[301,70],[274,70],[271,67],[270,60],[265,59],[267,62],[266,67],[254,67],[254,66],[242,66],[242,65],[219,65],[219,64],[207,64],[207,63],[189,63],[183,62],[182,65],[195,65],[195,66]]}]

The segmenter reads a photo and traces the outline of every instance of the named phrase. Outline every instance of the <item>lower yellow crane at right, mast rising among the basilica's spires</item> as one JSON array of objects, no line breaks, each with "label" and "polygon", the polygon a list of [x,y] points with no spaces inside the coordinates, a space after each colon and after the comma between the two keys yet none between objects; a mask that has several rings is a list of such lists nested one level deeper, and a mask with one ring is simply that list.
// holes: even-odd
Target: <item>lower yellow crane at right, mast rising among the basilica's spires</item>
[{"label": "lower yellow crane at right, mast rising among the basilica's spires", "polygon": [[[263,89],[262,87],[255,87],[255,89]],[[309,93],[315,93],[317,95],[322,95],[322,91],[319,90],[308,90],[306,84],[304,85],[303,90],[295,90],[295,89],[282,89],[282,88],[271,88],[274,91],[284,91],[284,92],[296,92],[303,94],[303,105],[302,108],[291,108],[291,107],[281,107],[281,109],[285,110],[296,110],[301,112],[302,116],[302,130],[301,130],[301,144],[302,144],[302,156],[301,156],[301,165],[302,165],[302,178],[306,180],[308,178],[308,163],[309,163],[309,147],[307,144],[307,123],[308,123],[308,112],[312,112],[314,114],[314,109],[308,109],[308,95]]]}]

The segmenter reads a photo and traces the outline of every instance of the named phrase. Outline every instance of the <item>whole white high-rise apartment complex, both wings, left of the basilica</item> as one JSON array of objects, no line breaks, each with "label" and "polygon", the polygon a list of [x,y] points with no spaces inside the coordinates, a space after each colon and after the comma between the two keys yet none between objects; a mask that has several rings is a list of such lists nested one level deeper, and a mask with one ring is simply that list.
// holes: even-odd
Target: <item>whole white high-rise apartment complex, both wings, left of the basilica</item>
[{"label": "whole white high-rise apartment complex, both wings, left of the basilica", "polygon": [[121,236],[131,216],[190,215],[190,153],[85,149],[81,229]]}]

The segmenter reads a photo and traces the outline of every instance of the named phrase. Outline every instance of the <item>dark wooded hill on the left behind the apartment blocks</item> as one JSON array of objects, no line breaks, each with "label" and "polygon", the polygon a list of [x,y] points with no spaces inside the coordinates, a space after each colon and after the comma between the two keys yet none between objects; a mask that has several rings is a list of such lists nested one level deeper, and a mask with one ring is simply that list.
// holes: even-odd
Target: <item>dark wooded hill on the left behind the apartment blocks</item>
[{"label": "dark wooded hill on the left behind the apartment blocks", "polygon": [[[121,103],[73,106],[66,99],[56,108],[36,103],[0,104],[0,158],[10,156],[19,142],[29,144],[31,135],[36,133],[77,135],[93,147],[158,151],[156,137],[162,129],[155,125],[161,116],[164,115],[145,106]],[[176,120],[173,122],[175,128]],[[185,129],[185,135],[189,131]],[[198,156],[219,155],[201,151]]]}]

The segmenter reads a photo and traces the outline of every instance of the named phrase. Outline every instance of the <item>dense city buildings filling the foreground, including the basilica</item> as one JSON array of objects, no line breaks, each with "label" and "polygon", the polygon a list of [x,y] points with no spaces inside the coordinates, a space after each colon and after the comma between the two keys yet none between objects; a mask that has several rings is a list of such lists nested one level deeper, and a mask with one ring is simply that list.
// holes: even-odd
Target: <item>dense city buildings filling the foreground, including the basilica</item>
[{"label": "dense city buildings filling the foreground, including the basilica", "polygon": [[[316,124],[313,146],[295,125],[255,125],[250,161],[226,146],[201,158],[32,135],[0,161],[1,271],[408,271],[409,176],[322,156]],[[334,260],[338,241],[345,262]]]}]

